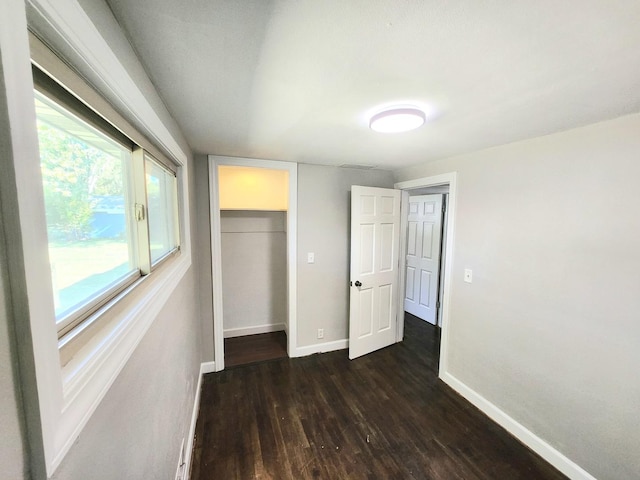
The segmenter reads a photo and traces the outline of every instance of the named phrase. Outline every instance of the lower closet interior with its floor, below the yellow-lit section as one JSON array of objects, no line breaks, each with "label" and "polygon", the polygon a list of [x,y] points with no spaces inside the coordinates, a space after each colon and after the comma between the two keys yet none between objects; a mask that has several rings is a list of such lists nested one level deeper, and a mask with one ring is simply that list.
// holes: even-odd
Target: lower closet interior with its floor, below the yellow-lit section
[{"label": "lower closet interior with its floor, below the yellow-lit section", "polygon": [[287,356],[286,216],[220,210],[227,367]]}]

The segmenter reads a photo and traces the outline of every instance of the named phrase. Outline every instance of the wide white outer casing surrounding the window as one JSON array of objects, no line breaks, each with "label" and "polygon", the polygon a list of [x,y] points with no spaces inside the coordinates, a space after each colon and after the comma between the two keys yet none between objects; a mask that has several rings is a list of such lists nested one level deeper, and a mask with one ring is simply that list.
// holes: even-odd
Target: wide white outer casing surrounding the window
[{"label": "wide white outer casing surrounding the window", "polygon": [[42,248],[47,245],[44,201],[41,189],[33,188],[34,182],[40,179],[40,159],[27,26],[24,10],[21,10],[24,5],[11,4],[8,13],[16,21],[3,22],[3,29],[5,26],[8,29],[0,40],[3,41],[3,53],[9,36],[13,42],[10,61],[15,67],[12,72],[15,81],[6,88],[13,102],[10,106],[11,126],[21,133],[15,137],[19,138],[20,145],[14,147],[14,152],[16,148],[21,149],[21,158],[14,161],[15,180],[41,441],[46,473],[50,477],[191,266],[189,172],[187,154],[78,2],[29,0],[28,3],[52,27],[58,40],[78,55],[83,65],[76,67],[99,75],[109,89],[109,97],[117,98],[118,104],[129,109],[123,115],[132,119],[141,133],[179,165],[180,255],[136,282],[130,287],[133,290],[123,292],[118,308],[110,309],[101,318],[98,331],[92,332],[61,362],[49,267],[47,256],[42,255]]}]

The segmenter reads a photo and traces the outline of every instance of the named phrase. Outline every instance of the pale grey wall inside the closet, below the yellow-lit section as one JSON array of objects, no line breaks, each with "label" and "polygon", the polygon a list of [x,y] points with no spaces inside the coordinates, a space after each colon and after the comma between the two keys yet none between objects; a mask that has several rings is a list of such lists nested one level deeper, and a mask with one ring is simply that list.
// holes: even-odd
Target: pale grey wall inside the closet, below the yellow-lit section
[{"label": "pale grey wall inside the closet, below the yellow-lit section", "polygon": [[287,323],[286,215],[220,211],[225,337]]}]

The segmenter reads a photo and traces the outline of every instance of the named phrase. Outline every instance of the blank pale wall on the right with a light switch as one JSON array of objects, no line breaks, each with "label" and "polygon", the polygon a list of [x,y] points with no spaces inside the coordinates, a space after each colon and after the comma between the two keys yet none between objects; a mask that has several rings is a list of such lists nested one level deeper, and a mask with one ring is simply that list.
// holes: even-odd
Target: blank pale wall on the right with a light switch
[{"label": "blank pale wall on the right with a light switch", "polygon": [[451,171],[450,373],[593,476],[639,478],[640,115],[396,179]]}]

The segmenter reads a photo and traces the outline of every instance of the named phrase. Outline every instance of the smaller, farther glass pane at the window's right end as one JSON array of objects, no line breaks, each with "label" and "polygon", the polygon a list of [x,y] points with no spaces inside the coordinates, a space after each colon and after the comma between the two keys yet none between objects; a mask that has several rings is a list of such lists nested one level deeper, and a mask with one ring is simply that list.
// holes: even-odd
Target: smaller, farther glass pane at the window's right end
[{"label": "smaller, farther glass pane at the window's right end", "polygon": [[149,157],[145,161],[151,264],[178,247],[177,182]]}]

